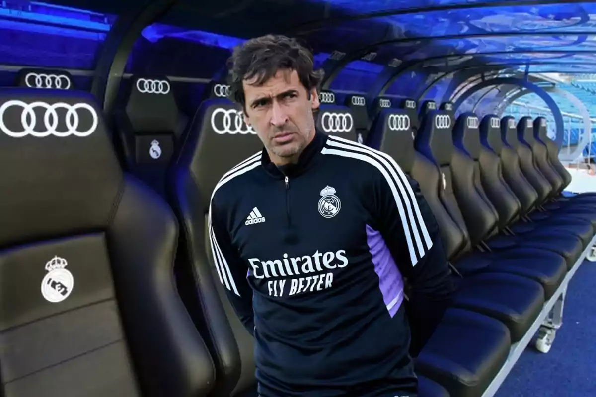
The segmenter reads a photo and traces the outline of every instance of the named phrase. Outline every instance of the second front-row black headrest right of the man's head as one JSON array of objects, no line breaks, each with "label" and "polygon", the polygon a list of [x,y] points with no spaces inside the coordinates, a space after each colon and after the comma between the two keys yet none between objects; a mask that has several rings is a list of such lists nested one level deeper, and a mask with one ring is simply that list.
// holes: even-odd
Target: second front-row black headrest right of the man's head
[{"label": "second front-row black headrest right of the man's head", "polygon": [[386,109],[379,113],[375,136],[380,138],[376,148],[385,152],[409,173],[414,164],[414,129],[405,110]]}]

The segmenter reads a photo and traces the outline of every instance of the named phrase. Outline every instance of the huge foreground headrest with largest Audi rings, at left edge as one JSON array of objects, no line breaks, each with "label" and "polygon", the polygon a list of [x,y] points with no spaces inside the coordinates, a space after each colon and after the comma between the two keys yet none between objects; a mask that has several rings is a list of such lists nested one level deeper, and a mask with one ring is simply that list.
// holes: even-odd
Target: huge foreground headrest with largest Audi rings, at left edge
[{"label": "huge foreground headrest with largest Audi rings, at left edge", "polygon": [[90,93],[0,89],[0,246],[107,227],[122,170]]}]

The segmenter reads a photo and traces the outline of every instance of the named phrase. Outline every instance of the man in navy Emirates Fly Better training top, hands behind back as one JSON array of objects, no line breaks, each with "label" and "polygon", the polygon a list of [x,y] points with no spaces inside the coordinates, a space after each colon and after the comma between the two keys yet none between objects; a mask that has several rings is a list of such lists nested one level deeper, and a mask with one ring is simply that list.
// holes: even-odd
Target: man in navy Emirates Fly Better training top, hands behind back
[{"label": "man in navy Emirates Fly Better training top, hands behind back", "polygon": [[404,279],[421,340],[452,292],[417,184],[387,155],[316,131],[322,73],[295,40],[252,39],[231,61],[230,95],[265,148],[219,181],[209,234],[254,336],[259,394],[416,396]]}]

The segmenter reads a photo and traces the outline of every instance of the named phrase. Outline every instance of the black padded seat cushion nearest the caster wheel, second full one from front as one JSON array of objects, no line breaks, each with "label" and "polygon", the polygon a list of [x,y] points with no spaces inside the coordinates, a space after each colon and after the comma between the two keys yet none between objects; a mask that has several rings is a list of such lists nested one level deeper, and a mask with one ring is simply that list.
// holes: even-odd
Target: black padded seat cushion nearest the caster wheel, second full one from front
[{"label": "black padded seat cushion nearest the caster wheel, second full one from front", "polygon": [[544,301],[544,289],[534,280],[515,274],[480,273],[461,280],[452,306],[496,318],[508,327],[511,341],[517,342],[538,317]]}]

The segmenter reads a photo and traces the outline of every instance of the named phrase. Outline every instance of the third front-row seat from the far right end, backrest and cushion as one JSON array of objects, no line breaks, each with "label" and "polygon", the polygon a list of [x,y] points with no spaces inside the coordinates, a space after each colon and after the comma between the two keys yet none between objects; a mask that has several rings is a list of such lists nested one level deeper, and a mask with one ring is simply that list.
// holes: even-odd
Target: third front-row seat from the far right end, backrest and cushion
[{"label": "third front-row seat from the far right end, backrest and cushion", "polygon": [[[527,127],[527,124],[524,125]],[[594,216],[591,214],[590,208],[585,206],[555,211],[547,211],[542,208],[544,199],[540,198],[538,190],[542,189],[548,195],[551,189],[550,184],[534,168],[530,149],[520,145],[515,120],[511,116],[505,116],[501,119],[501,140],[503,143],[501,148],[503,175],[508,185],[520,199],[523,213],[529,220],[545,221],[550,219],[554,221],[561,218],[577,218],[578,222],[589,222],[592,228],[596,229]],[[523,162],[525,166],[522,166],[522,159],[518,151],[522,151],[526,155]],[[530,157],[529,160],[528,157]]]}]

